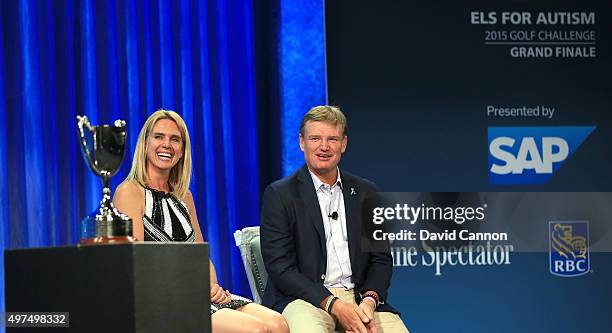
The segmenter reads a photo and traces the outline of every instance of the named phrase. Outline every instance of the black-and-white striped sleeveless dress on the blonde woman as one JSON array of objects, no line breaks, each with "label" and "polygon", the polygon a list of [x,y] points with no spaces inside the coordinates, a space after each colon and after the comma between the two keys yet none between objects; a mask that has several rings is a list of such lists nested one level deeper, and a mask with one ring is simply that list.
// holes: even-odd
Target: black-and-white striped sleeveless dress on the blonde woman
[{"label": "black-and-white striped sleeveless dress on the blonde woman", "polygon": [[[195,232],[187,205],[171,193],[145,187],[145,242],[195,242]],[[248,298],[232,294],[225,304],[211,303],[210,314],[220,309],[237,309],[252,303]]]}]

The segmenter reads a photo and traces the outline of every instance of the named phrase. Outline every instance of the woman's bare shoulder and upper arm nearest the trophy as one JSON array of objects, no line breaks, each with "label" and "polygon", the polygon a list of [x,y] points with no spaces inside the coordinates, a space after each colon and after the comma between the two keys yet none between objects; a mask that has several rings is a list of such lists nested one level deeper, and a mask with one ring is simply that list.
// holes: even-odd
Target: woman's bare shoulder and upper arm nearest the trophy
[{"label": "woman's bare shoulder and upper arm nearest the trophy", "polygon": [[139,241],[144,241],[144,201],[144,189],[131,181],[119,184],[113,197],[115,208],[132,219],[134,237]]}]

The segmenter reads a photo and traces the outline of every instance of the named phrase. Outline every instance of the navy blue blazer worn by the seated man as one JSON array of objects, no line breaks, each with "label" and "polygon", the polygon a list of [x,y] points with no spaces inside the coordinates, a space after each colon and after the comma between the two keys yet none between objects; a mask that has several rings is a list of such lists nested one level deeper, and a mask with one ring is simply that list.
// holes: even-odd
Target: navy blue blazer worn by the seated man
[{"label": "navy blue blazer worn by the seated man", "polygon": [[[361,207],[365,194],[376,192],[376,185],[346,171],[340,171],[340,176],[356,298],[363,291],[374,290],[385,301],[377,311],[398,313],[386,303],[392,272],[390,253],[361,251]],[[319,307],[331,292],[323,286],[327,264],[325,229],[306,165],[266,188],[260,230],[261,252],[268,271],[263,304],[278,312],[296,299]]]}]

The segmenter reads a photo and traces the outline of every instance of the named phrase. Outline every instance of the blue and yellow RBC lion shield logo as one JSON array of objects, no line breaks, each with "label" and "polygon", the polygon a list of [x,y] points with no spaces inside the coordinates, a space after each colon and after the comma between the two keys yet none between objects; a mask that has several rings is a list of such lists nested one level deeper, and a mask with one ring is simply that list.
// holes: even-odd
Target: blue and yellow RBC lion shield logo
[{"label": "blue and yellow RBC lion shield logo", "polygon": [[548,233],[552,274],[572,277],[590,270],[588,221],[549,222]]}]

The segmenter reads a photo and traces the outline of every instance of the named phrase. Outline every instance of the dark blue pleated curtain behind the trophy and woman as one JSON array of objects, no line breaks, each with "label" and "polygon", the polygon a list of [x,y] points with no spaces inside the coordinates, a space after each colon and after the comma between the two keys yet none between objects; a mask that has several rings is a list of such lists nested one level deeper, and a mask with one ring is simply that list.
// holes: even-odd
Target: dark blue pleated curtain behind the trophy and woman
[{"label": "dark blue pleated curtain behind the trophy and woman", "polygon": [[127,121],[129,150],[114,188],[144,119],[172,109],[193,140],[191,190],[220,281],[249,295],[232,234],[259,223],[252,7],[249,0],[2,1],[0,247],[78,241],[101,181],[81,156],[76,115]]}]

